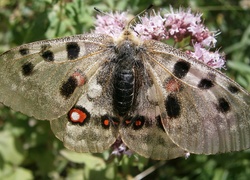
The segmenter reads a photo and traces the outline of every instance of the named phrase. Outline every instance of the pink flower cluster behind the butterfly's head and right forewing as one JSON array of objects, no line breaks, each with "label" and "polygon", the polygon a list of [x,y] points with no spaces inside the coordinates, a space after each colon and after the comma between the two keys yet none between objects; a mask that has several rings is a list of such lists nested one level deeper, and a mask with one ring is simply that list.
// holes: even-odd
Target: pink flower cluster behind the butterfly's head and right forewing
[{"label": "pink flower cluster behind the butterfly's head and right forewing", "polygon": [[[128,24],[127,17],[126,12],[97,16],[94,32],[118,38]],[[193,48],[193,51],[187,51],[190,56],[211,67],[222,68],[225,64],[225,57],[218,51],[210,51],[215,47],[217,42],[215,37],[218,32],[209,31],[202,23],[201,17],[202,14],[192,14],[190,9],[180,8],[174,11],[170,7],[170,12],[163,16],[160,15],[160,12],[153,11],[151,15],[138,17],[139,22],[134,26],[131,25],[131,28],[142,41],[174,39],[176,43],[180,43],[185,39],[190,39],[189,45]]]}]

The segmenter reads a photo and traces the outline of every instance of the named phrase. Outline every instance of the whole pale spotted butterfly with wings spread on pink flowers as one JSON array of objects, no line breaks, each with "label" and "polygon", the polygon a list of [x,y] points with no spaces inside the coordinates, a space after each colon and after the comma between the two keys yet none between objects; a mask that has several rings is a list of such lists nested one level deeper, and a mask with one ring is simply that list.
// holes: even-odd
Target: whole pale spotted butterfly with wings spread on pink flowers
[{"label": "whole pale spotted butterfly with wings spread on pink flowers", "polygon": [[0,101],[49,120],[64,146],[100,153],[121,140],[152,159],[250,147],[250,95],[221,72],[129,28],[0,55]]}]

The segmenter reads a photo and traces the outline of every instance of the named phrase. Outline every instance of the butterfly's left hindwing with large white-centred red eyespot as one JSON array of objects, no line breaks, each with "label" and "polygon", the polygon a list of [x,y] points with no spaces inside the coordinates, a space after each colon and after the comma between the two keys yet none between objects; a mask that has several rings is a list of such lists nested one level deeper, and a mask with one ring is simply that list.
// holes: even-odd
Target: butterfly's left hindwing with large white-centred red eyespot
[{"label": "butterfly's left hindwing with large white-centred red eyespot", "polygon": [[119,121],[112,114],[112,99],[106,93],[109,86],[104,86],[108,77],[100,69],[89,79],[86,93],[68,114],[50,121],[56,137],[76,152],[103,152],[118,136]]}]

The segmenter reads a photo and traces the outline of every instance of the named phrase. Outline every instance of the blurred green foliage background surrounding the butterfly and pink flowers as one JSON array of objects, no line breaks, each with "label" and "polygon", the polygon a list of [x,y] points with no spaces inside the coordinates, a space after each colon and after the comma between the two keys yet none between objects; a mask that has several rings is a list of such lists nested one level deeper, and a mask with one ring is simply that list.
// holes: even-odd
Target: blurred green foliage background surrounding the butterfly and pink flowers
[{"label": "blurred green foliage background surrounding the butterfly and pink flowers", "polygon": [[[149,4],[155,9],[191,7],[205,24],[221,30],[218,47],[225,51],[228,75],[250,90],[250,10],[235,0],[19,0],[0,2],[0,51],[23,43],[89,32],[96,15],[126,11],[136,14]],[[103,154],[78,154],[64,149],[49,122],[37,121],[0,107],[0,179],[248,179],[249,151],[213,156],[191,155],[165,162],[139,156],[108,161]],[[145,170],[148,171],[145,171]],[[151,172],[147,174],[147,172]]]}]

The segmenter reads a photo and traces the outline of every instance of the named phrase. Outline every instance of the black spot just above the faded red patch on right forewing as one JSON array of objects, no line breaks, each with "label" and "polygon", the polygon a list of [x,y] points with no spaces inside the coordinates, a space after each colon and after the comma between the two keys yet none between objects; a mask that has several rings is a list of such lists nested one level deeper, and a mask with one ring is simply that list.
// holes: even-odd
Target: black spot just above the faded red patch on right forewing
[{"label": "black spot just above the faded red patch on right forewing", "polygon": [[178,61],[177,63],[175,63],[174,65],[174,71],[173,74],[181,79],[183,77],[185,77],[188,73],[190,69],[190,63],[186,62],[186,61]]}]

